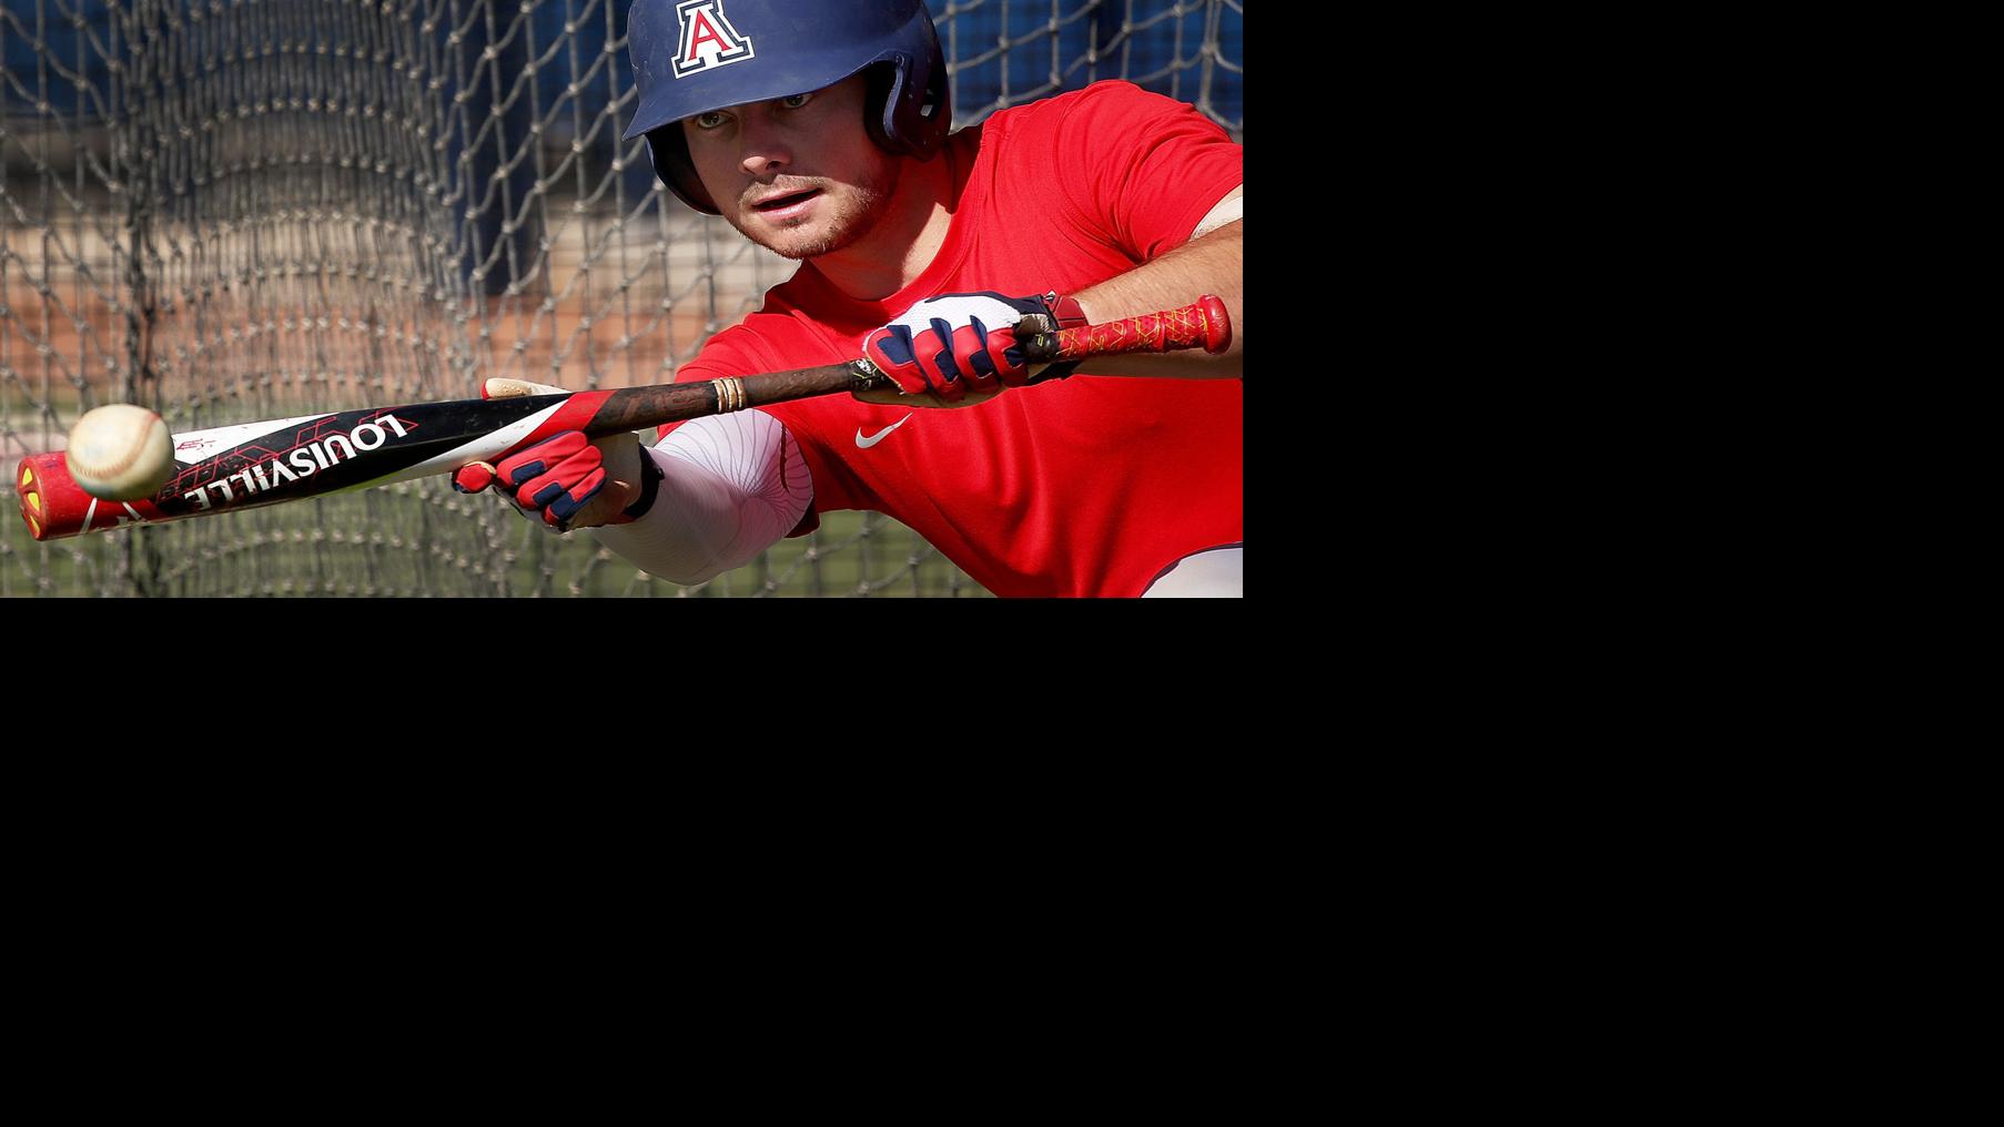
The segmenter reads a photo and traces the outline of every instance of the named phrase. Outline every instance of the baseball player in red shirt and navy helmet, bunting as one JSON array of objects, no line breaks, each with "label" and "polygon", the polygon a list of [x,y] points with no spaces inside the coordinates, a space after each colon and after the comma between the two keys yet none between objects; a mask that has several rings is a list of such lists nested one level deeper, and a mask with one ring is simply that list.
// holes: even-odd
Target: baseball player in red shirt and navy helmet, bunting
[{"label": "baseball player in red shirt and navy helmet, bunting", "polygon": [[[1000,597],[1242,595],[1238,144],[1128,82],[950,132],[920,0],[635,0],[627,34],[627,136],[661,182],[800,260],[677,380],[868,356],[898,390],[695,418],[651,448],[561,434],[495,466],[519,508],[675,583],[872,508]],[[1232,316],[1222,356],[1016,348],[1024,314],[1200,294]]]}]

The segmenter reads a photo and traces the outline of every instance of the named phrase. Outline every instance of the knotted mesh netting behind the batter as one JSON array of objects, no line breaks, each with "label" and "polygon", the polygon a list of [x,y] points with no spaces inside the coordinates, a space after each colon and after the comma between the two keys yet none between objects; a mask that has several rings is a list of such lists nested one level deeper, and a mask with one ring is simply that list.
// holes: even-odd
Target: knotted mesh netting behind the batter
[{"label": "knotted mesh netting behind the batter", "polygon": [[[794,264],[663,192],[625,2],[6,0],[0,468],[170,430],[665,382]],[[934,4],[956,124],[1130,78],[1242,140],[1230,0]],[[0,595],[982,595],[880,514],[685,589],[445,478],[36,542]]]}]

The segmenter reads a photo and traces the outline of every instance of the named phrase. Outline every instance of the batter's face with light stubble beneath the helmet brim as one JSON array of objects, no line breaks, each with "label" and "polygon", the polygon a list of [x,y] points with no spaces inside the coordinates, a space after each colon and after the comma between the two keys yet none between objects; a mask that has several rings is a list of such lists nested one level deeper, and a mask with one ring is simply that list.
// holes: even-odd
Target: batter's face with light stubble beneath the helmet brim
[{"label": "batter's face with light stubble beneath the helmet brim", "polygon": [[864,132],[864,76],[814,94],[683,118],[689,160],[745,238],[788,258],[842,250],[878,224],[900,160]]}]

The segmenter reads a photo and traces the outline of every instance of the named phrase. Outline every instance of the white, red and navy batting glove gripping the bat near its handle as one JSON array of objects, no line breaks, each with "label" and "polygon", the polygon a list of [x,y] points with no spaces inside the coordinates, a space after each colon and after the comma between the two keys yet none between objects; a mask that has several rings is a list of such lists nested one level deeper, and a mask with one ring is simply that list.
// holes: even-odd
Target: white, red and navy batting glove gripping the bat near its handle
[{"label": "white, red and navy batting glove gripping the bat near its handle", "polygon": [[[1016,344],[1016,322],[1030,314],[1052,318],[1058,328],[1086,322],[1074,298],[1044,294],[1006,298],[998,292],[944,294],[904,310],[898,320],[864,338],[864,354],[904,394],[932,392],[960,402],[970,392],[994,394],[1030,380],[1030,362]],[[1036,380],[1064,378],[1076,360],[1050,364]]]}]

